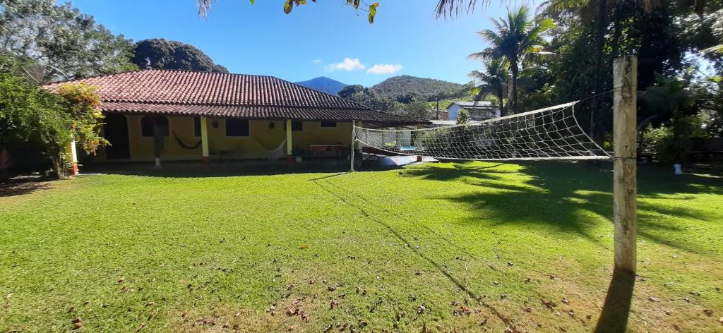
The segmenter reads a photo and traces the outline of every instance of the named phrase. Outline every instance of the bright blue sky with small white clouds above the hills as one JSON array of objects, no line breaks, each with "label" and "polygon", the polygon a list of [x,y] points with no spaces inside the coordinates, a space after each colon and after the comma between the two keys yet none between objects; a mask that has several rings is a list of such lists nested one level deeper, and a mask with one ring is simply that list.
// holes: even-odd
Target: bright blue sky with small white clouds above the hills
[{"label": "bright blue sky with small white clouds above the hills", "polygon": [[231,72],[290,81],[326,76],[374,85],[408,74],[468,82],[479,62],[466,59],[485,44],[476,31],[507,12],[497,2],[455,20],[437,20],[437,0],[377,0],[373,25],[344,0],[309,1],[283,13],[283,0],[218,0],[208,20],[195,0],[75,0],[113,33],[189,43]]}]

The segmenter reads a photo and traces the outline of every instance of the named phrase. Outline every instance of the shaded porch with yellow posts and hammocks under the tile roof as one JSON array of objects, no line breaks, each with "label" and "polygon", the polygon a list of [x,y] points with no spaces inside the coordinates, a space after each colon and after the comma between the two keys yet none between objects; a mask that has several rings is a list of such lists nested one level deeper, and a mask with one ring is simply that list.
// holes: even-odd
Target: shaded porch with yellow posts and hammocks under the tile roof
[{"label": "shaded porch with yellow posts and hammocks under the tile roof", "polygon": [[351,149],[351,121],[109,113],[104,122],[111,146],[88,161],[347,160]]}]

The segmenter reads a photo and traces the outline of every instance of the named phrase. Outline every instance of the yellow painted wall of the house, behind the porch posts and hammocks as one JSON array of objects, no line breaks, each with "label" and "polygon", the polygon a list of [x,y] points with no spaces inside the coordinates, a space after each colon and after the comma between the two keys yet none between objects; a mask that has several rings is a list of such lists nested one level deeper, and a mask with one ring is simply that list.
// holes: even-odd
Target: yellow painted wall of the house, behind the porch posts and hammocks
[{"label": "yellow painted wall of the house, behind the porch posts and hammocks", "polygon": [[[141,118],[138,115],[128,115],[128,137],[131,160],[153,160],[153,137],[141,136]],[[181,147],[173,135],[176,132],[187,146],[194,146],[200,142],[200,137],[194,136],[193,118],[168,116],[169,137],[163,141],[162,160],[200,160],[201,146],[194,150]],[[274,124],[273,129],[269,124]],[[250,120],[249,137],[226,137],[226,120],[223,118],[208,118],[208,147],[211,158],[217,157],[220,152],[232,158],[267,158],[269,150],[275,150],[286,139],[284,129],[285,121]],[[216,125],[214,127],[214,124]],[[318,121],[304,121],[302,131],[292,132],[292,146],[296,149],[308,150],[310,144],[345,144],[351,142],[351,122],[337,123],[335,128],[322,128]],[[111,142],[112,144],[112,142]],[[286,155],[286,144],[281,147]],[[106,154],[101,149],[96,160],[106,160]]]}]

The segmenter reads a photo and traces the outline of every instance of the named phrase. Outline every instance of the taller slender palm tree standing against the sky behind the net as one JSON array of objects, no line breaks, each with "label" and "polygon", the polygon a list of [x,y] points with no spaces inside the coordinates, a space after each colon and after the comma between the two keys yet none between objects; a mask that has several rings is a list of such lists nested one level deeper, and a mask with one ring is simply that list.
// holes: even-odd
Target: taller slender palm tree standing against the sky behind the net
[{"label": "taller slender palm tree standing against the sky behind the net", "polygon": [[497,31],[485,29],[478,34],[492,45],[470,54],[469,58],[482,61],[503,59],[508,64],[512,73],[512,111],[518,113],[517,78],[520,65],[529,60],[529,56],[542,53],[542,35],[555,27],[555,23],[549,18],[532,20],[526,6],[520,7],[517,12],[508,12],[506,20],[501,17],[500,20],[490,20]]}]

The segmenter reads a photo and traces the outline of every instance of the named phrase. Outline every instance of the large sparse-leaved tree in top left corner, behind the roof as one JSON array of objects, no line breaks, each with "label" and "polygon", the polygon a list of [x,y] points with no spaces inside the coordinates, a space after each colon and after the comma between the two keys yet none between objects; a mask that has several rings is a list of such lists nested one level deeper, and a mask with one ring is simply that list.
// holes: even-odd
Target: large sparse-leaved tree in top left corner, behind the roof
[{"label": "large sparse-leaved tree in top left corner, behind the roof", "polygon": [[0,0],[0,52],[33,60],[50,71],[38,82],[137,69],[130,63],[133,44],[113,35],[92,16],[54,0]]}]

